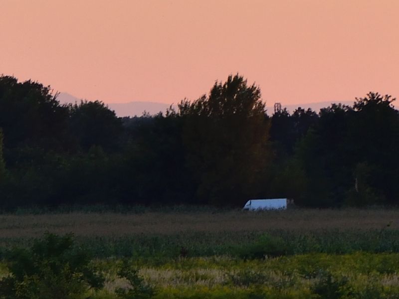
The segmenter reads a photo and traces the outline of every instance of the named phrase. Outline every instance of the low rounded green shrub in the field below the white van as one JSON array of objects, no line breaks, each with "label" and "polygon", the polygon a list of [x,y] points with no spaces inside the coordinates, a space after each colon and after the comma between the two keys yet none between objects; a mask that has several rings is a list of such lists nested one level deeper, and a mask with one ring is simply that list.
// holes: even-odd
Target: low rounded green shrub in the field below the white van
[{"label": "low rounded green shrub in the field below the white van", "polygon": [[243,259],[264,259],[286,255],[288,247],[282,238],[264,234],[252,244],[239,246],[237,251]]}]

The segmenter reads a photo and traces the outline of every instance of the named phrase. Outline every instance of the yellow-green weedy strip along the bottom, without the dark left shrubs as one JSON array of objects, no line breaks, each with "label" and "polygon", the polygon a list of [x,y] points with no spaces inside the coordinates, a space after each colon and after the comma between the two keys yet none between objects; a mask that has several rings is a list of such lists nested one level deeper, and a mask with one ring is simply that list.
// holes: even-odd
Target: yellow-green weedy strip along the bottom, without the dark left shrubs
[{"label": "yellow-green weedy strip along the bottom, without the dark left shrubs", "polygon": [[[135,262],[137,277],[154,293],[131,298],[398,298],[398,261],[398,254],[357,252],[247,261],[227,256],[179,258],[150,266]],[[118,275],[121,264],[116,259],[95,260],[93,265],[105,276],[104,288],[84,296],[119,298],[115,290],[131,287]],[[8,274],[5,264],[0,271],[0,276]]]}]

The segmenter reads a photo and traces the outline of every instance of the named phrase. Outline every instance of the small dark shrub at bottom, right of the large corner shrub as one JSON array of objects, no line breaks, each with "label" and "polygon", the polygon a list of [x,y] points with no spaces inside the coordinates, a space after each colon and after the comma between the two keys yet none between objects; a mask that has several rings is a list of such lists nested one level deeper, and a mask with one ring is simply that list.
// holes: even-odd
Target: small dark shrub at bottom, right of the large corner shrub
[{"label": "small dark shrub at bottom, right of the large corner shrub", "polygon": [[118,288],[115,290],[118,298],[122,299],[150,299],[156,294],[156,290],[151,285],[144,282],[135,269],[126,260],[123,261],[121,269],[118,271],[118,276],[125,278],[129,282],[129,288]]}]

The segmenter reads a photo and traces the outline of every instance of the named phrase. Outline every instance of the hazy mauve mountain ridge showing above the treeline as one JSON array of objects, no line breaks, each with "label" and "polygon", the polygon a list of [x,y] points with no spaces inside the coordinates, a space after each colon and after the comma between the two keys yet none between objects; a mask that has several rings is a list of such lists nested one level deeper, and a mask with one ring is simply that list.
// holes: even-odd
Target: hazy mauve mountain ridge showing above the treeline
[{"label": "hazy mauve mountain ridge showing above the treeline", "polygon": [[[58,101],[61,104],[74,104],[80,103],[81,99],[78,99],[68,93],[60,93],[57,97]],[[105,103],[105,102],[104,102]],[[354,101],[333,101],[333,102],[318,102],[318,103],[304,103],[304,104],[292,104],[292,105],[284,105],[281,103],[282,108],[286,108],[288,112],[292,113],[298,107],[303,109],[311,108],[316,113],[319,113],[321,108],[326,108],[331,106],[332,103],[341,103],[344,105],[352,106]],[[166,110],[171,106],[170,104],[158,103],[158,102],[128,102],[128,103],[105,103],[109,109],[115,111],[115,114],[119,117],[126,116],[142,116],[144,112],[149,113],[150,115],[155,115],[160,112],[165,113]],[[173,105],[176,107],[176,105]],[[267,114],[272,115],[274,113],[273,106],[267,106]]]}]

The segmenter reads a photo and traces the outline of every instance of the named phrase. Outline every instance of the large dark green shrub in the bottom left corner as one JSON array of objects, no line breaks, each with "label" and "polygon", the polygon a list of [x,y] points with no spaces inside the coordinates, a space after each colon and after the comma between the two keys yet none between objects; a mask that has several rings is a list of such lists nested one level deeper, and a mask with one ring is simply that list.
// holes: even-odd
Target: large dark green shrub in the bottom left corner
[{"label": "large dark green shrub in the bottom left corner", "polygon": [[104,279],[87,252],[76,249],[71,234],[46,233],[30,249],[6,254],[8,276],[0,280],[0,299],[80,299]]}]

